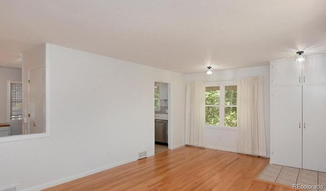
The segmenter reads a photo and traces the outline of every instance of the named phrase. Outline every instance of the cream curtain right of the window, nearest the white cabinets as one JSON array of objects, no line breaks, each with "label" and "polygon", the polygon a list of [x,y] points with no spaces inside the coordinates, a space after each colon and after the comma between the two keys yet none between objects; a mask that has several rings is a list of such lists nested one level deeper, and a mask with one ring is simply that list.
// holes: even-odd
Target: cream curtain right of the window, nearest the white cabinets
[{"label": "cream curtain right of the window, nearest the white cabinets", "polygon": [[237,79],[237,150],[266,156],[263,76]]}]

